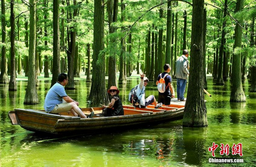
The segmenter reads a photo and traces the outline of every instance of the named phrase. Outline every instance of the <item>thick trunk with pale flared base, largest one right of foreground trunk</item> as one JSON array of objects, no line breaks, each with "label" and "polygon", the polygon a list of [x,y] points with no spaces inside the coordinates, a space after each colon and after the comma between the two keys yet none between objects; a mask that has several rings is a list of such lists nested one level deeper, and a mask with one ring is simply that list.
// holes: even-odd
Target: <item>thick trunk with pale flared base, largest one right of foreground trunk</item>
[{"label": "thick trunk with pale flared base, largest one right of foreground trunk", "polygon": [[[239,12],[243,9],[244,0],[237,0],[236,2],[236,12]],[[235,28],[235,44],[234,49],[236,47],[242,46],[242,29],[240,25],[243,23],[243,18],[237,20],[236,28]],[[240,24],[240,25],[239,25]],[[246,101],[245,93],[242,88],[242,79],[241,79],[241,55],[233,55],[232,62],[232,81],[231,81],[231,94],[230,100],[231,102],[243,102]]]}]

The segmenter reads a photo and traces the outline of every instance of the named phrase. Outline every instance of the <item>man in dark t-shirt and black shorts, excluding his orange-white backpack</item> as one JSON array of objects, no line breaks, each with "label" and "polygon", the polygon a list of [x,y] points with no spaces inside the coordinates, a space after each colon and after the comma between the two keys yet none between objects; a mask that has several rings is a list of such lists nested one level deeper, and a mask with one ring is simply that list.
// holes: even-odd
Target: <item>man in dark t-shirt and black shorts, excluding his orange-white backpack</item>
[{"label": "man in dark t-shirt and black shorts, excluding his orange-white backpack", "polygon": [[[164,72],[158,75],[157,81],[156,81],[156,85],[158,85],[158,82],[160,80],[160,78],[164,78],[164,76],[168,73],[170,73],[171,71],[171,67],[169,64],[164,64]],[[161,75],[161,77],[160,77]],[[175,92],[174,92],[174,88],[172,86],[172,77],[168,74],[165,78],[165,92],[164,93],[160,93],[158,91],[158,103],[162,103],[164,104],[164,106],[169,106],[171,103],[171,97],[174,98],[175,97]]]}]

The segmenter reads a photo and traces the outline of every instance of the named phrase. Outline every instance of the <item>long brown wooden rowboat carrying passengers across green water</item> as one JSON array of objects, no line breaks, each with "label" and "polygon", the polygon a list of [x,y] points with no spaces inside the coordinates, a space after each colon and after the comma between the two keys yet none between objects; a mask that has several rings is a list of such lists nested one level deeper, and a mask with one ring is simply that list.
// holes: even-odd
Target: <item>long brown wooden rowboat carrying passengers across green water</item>
[{"label": "long brown wooden rowboat carrying passengers across green water", "polygon": [[124,115],[113,117],[96,116],[102,112],[102,107],[83,108],[82,111],[88,115],[94,111],[93,118],[80,118],[73,116],[70,112],[49,114],[44,110],[14,109],[9,111],[11,124],[20,125],[22,128],[34,132],[46,132],[53,134],[88,133],[95,130],[107,128],[123,128],[138,124],[151,124],[162,122],[183,116],[184,105],[173,104],[170,107],[155,109],[149,105],[148,108],[140,109],[131,105],[123,105]]}]

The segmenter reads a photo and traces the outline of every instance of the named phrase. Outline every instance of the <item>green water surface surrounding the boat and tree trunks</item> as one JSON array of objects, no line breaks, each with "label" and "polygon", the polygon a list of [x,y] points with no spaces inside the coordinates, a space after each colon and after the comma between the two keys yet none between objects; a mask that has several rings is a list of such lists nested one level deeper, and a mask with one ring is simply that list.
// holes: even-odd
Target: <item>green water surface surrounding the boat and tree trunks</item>
[{"label": "green water surface surrounding the boat and tree trunks", "polygon": [[[41,74],[43,75],[43,74]],[[19,76],[18,76],[19,77]],[[80,107],[86,107],[90,83],[86,79],[75,81],[76,89],[66,91]],[[255,166],[256,152],[256,93],[249,92],[248,81],[243,88],[245,103],[230,103],[230,82],[224,86],[208,79],[207,100],[208,127],[182,127],[182,120],[163,122],[121,131],[108,130],[94,135],[52,137],[38,135],[11,125],[8,111],[14,108],[43,109],[44,97],[50,80],[39,80],[39,104],[24,105],[26,79],[17,81],[17,91],[8,91],[8,85],[0,84],[1,166]],[[119,86],[123,104],[129,104],[130,89],[139,83],[138,77],[128,78]],[[176,81],[173,81],[176,90]],[[158,96],[156,87],[149,82],[146,95]],[[186,97],[186,93],[185,93]],[[229,156],[243,158],[239,164],[210,164],[208,148],[215,142],[229,144]],[[231,155],[233,143],[242,143],[243,157]]]}]

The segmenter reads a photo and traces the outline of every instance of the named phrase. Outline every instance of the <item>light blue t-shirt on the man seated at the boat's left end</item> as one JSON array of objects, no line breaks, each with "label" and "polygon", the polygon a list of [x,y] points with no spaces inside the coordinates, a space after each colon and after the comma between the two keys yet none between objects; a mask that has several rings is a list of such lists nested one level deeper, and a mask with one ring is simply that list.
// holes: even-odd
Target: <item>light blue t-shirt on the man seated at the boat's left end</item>
[{"label": "light blue t-shirt on the man seated at the boat's left end", "polygon": [[67,96],[64,87],[56,82],[47,92],[44,108],[46,112],[51,112],[57,104],[63,103],[62,97]]}]

